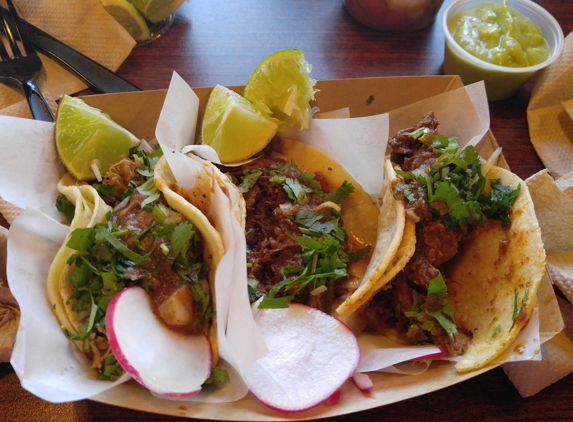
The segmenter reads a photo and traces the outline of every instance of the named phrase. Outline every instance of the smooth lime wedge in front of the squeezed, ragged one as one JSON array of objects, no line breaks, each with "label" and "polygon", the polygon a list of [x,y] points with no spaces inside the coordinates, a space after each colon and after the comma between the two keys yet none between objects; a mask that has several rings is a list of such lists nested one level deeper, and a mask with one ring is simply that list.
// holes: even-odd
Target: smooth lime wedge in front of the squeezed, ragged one
[{"label": "smooth lime wedge in front of the squeezed, ragged one", "polygon": [[264,105],[254,105],[234,91],[216,85],[201,126],[201,139],[217,151],[221,163],[246,160],[260,152],[277,133],[277,123]]}]

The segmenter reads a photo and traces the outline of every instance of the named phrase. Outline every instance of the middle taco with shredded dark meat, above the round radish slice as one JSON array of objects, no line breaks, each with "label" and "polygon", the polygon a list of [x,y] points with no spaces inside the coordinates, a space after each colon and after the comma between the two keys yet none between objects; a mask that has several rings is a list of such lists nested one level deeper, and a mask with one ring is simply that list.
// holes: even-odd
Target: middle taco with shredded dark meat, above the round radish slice
[{"label": "middle taco with shredded dark meat, above the round radish slice", "polygon": [[330,157],[287,139],[223,171],[246,203],[251,302],[333,313],[356,289],[376,242],[378,209],[369,195]]}]

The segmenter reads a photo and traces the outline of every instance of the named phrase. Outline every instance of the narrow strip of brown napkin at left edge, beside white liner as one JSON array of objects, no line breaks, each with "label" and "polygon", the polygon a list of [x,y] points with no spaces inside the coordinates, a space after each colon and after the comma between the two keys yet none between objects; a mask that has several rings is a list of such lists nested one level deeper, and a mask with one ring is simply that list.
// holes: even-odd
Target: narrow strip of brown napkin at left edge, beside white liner
[{"label": "narrow strip of brown napkin at left edge, beside white liner", "polygon": [[7,233],[0,226],[0,362],[10,360],[20,321],[20,309],[6,284]]}]

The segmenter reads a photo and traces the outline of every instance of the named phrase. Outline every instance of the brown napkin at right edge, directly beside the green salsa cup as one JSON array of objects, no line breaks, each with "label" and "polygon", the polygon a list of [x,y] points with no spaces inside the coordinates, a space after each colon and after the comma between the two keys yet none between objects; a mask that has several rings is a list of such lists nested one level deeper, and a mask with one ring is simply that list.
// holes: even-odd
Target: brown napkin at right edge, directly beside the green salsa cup
[{"label": "brown napkin at right edge, directly beside the green salsa cup", "polygon": [[527,108],[529,136],[554,178],[573,170],[573,33],[563,53],[536,77]]}]

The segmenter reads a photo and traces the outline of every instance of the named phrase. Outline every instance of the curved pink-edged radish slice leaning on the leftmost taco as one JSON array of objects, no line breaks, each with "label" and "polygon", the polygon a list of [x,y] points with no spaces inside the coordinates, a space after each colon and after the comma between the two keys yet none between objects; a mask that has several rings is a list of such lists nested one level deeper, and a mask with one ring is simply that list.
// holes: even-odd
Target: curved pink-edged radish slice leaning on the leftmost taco
[{"label": "curved pink-edged radish slice leaning on the leftmost taco", "polygon": [[141,287],[128,287],[114,296],[105,324],[119,364],[157,394],[192,396],[211,374],[209,339],[169,330],[153,314],[149,296]]}]

